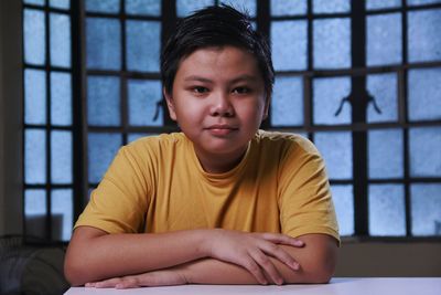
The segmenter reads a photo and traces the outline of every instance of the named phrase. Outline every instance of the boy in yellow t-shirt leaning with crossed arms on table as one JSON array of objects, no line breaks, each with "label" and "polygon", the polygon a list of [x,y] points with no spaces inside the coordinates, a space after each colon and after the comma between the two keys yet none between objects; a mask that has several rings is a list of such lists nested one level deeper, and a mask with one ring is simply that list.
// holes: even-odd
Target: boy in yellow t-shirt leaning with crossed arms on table
[{"label": "boy in yellow t-shirt leaning with crossed arms on table", "polygon": [[185,18],[161,72],[182,133],[120,149],[75,225],[67,280],[117,288],[327,282],[338,233],[324,165],[306,139],[258,130],[275,77],[249,20],[229,7]]}]

